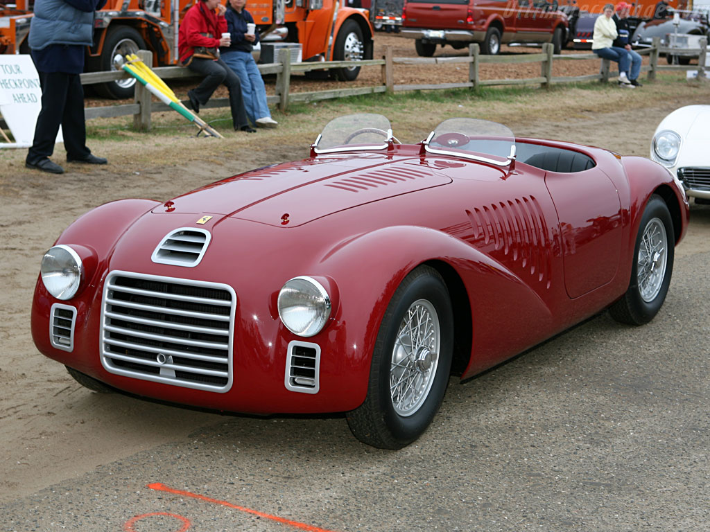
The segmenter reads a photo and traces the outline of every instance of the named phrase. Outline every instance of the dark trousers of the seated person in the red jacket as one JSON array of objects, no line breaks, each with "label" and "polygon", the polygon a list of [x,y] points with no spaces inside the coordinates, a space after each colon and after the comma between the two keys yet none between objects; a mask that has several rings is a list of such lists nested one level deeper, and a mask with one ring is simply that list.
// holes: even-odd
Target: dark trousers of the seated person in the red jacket
[{"label": "dark trousers of the seated person in the red jacket", "polygon": [[229,106],[231,107],[231,121],[234,124],[234,129],[249,125],[244,109],[244,100],[241,98],[241,82],[224,61],[193,57],[187,68],[204,76],[202,83],[192,89],[192,94],[195,95],[200,105],[207,104],[207,100],[214,94],[217,87],[224,83],[229,90]]}]

